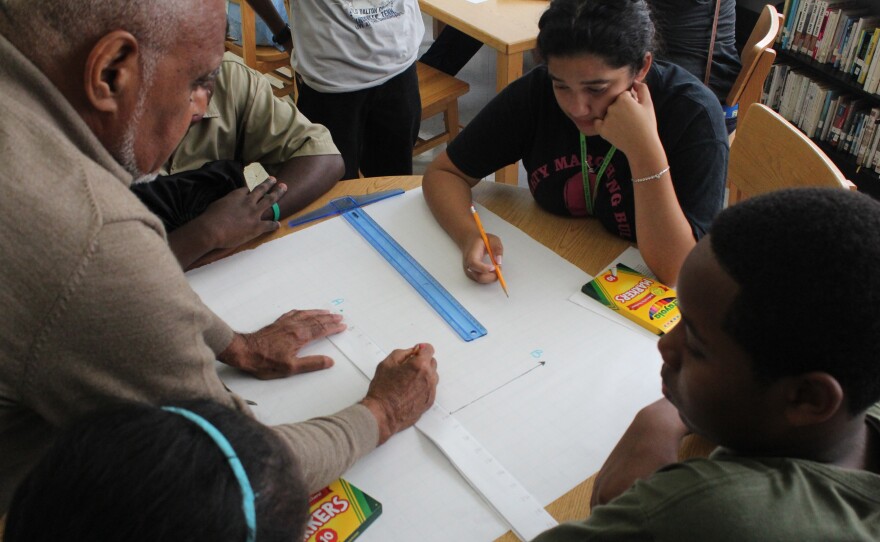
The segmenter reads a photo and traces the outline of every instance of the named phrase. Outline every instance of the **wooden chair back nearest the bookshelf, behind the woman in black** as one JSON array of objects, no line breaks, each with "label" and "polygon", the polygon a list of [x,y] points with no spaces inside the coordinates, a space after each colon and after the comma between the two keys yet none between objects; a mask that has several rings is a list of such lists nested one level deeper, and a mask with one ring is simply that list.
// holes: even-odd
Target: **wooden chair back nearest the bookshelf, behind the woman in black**
[{"label": "wooden chair back nearest the bookshelf, behind the woman in black", "polygon": [[739,104],[740,115],[745,114],[750,105],[761,100],[764,80],[767,79],[770,67],[776,59],[773,42],[782,28],[782,19],[783,16],[776,12],[775,7],[769,4],[764,6],[755,28],[743,47],[740,55],[742,70],[726,100],[727,105]]}]

